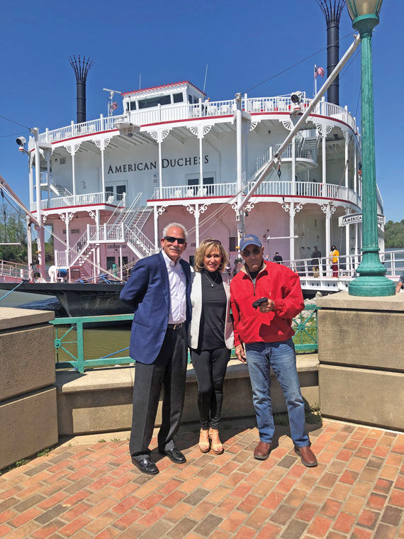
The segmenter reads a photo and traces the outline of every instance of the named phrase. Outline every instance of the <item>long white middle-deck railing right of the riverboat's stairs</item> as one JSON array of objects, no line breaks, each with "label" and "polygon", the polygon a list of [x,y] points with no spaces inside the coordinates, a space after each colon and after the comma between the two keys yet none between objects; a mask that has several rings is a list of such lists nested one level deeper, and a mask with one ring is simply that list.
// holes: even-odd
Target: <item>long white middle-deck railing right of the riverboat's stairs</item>
[{"label": "long white middle-deck railing right of the riverboat's stairs", "polygon": [[[245,184],[244,194],[251,189],[254,182]],[[206,196],[228,196],[237,194],[237,184],[179,185],[163,187],[162,195],[155,188],[152,199],[186,199],[204,198]],[[335,184],[320,184],[318,182],[262,182],[253,196],[313,196],[318,199],[340,199],[360,206],[361,197],[352,189]]]}]

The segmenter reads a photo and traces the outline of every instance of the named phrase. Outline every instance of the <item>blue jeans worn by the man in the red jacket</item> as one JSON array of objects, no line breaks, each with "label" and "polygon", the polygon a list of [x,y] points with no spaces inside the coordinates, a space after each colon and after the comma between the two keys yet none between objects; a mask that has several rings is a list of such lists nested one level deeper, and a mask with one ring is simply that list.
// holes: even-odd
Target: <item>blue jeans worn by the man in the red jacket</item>
[{"label": "blue jeans worn by the man in the red jacket", "polygon": [[304,430],[304,401],[296,369],[293,340],[288,339],[277,343],[250,343],[245,345],[245,351],[259,439],[270,443],[275,432],[271,406],[270,367],[272,367],[284,391],[293,443],[298,448],[309,445],[310,441]]}]

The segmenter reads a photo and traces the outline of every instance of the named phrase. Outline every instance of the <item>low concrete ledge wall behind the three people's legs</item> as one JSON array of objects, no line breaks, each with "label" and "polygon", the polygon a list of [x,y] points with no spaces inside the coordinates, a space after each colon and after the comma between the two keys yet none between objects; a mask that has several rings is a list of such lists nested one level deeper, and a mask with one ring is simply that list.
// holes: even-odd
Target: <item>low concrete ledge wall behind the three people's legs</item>
[{"label": "low concrete ledge wall behind the three people's legs", "polygon": [[[317,369],[317,355],[298,356],[301,389],[308,408],[319,402]],[[134,377],[134,367],[114,368],[113,376],[111,369],[93,369],[85,374],[57,372],[60,435],[130,429]],[[197,391],[195,374],[189,365],[181,418],[184,423],[198,421]],[[255,415],[246,365],[237,360],[230,362],[223,392],[223,418]],[[284,396],[275,377],[271,379],[271,397],[274,412],[286,411]],[[162,400],[157,411],[156,426],[161,424],[161,413]]]}]

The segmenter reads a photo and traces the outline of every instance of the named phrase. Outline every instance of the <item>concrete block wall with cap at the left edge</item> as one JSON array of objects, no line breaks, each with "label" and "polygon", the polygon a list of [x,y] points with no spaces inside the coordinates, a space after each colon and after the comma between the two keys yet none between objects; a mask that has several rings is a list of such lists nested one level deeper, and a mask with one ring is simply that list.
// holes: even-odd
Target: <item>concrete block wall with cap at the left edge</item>
[{"label": "concrete block wall with cap at the left edge", "polygon": [[0,308],[0,469],[57,443],[54,317]]}]

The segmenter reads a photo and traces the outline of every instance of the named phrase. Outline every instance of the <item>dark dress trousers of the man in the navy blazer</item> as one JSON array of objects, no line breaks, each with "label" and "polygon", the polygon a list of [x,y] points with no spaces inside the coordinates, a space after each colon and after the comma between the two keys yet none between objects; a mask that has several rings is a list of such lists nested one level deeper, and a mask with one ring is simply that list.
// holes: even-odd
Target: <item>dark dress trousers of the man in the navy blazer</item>
[{"label": "dark dress trousers of the man in the navy blazer", "polygon": [[[141,345],[141,343],[139,343]],[[174,434],[179,428],[184,407],[186,377],[186,331],[167,329],[162,348],[154,363],[136,362],[133,387],[133,419],[130,432],[130,455],[142,460],[150,455],[149,444],[159,405],[162,386],[162,426],[157,437],[159,450],[175,447]]]}]

